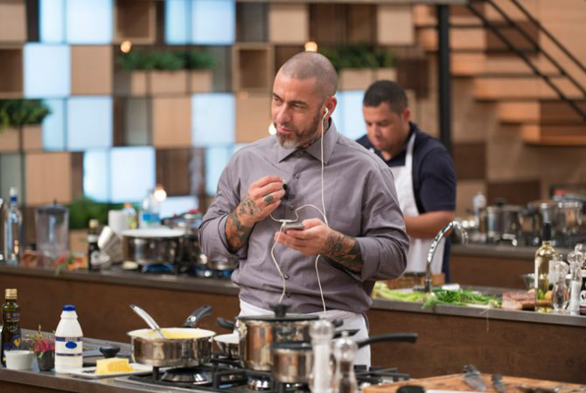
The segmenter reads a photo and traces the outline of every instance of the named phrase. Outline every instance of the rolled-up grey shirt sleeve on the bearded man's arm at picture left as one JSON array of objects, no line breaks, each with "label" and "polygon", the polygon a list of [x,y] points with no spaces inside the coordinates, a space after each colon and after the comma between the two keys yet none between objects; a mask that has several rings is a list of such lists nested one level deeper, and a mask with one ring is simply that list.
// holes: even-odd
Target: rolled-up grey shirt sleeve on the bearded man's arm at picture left
[{"label": "rolled-up grey shirt sleeve on the bearded man's arm at picture left", "polygon": [[199,226],[201,251],[210,259],[243,259],[247,254],[246,244],[236,253],[231,253],[226,238],[226,220],[240,202],[238,185],[234,184],[231,179],[232,168],[234,168],[234,163],[230,162],[223,170],[215,198],[207,209],[203,223]]}]

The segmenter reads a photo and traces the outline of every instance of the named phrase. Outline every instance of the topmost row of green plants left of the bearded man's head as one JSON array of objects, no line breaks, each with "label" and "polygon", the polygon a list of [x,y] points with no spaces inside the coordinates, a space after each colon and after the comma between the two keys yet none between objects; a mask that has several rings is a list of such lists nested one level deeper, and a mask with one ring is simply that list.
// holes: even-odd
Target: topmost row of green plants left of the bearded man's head
[{"label": "topmost row of green plants left of the bearded man's head", "polygon": [[212,69],[215,57],[207,51],[145,51],[136,50],[118,55],[116,62],[131,71],[178,71],[181,69]]}]

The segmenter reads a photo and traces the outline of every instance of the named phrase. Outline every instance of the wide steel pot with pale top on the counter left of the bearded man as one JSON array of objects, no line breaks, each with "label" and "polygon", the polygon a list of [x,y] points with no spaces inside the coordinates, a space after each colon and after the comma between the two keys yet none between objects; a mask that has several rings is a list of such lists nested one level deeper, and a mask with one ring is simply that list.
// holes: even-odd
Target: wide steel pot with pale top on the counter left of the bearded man
[{"label": "wide steel pot with pale top on the counter left of the bearded man", "polygon": [[183,240],[184,231],[165,227],[124,231],[124,260],[142,265],[176,263],[181,259]]}]

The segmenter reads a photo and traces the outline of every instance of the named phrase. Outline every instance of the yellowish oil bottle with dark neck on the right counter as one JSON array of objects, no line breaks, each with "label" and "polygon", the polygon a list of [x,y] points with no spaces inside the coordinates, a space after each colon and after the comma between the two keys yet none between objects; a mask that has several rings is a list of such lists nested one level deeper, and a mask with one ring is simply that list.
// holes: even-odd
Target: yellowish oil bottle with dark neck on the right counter
[{"label": "yellowish oil bottle with dark neck on the right counter", "polygon": [[[551,245],[551,223],[543,223],[543,240],[535,252],[535,311],[551,312],[550,264],[557,251]],[[549,302],[548,302],[549,299]]]}]

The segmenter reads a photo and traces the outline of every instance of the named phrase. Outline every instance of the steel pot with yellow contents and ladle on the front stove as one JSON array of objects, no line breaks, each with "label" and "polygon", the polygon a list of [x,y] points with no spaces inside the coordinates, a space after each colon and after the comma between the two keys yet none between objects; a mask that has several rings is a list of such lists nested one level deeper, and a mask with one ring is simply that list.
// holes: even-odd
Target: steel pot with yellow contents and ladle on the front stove
[{"label": "steel pot with yellow contents and ladle on the front stove", "polygon": [[162,328],[165,338],[160,338],[152,329],[129,332],[134,361],[157,367],[188,367],[209,362],[215,332],[195,326],[199,319],[211,312],[210,306],[203,306],[191,313],[184,327]]}]

